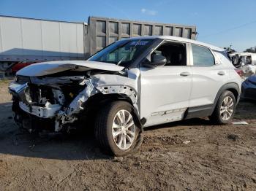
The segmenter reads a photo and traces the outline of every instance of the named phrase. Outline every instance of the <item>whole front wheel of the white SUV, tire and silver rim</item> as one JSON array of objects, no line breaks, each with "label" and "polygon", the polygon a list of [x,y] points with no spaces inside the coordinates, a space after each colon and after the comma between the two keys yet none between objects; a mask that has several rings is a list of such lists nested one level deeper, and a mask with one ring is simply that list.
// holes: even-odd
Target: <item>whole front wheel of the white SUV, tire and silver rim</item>
[{"label": "whole front wheel of the white SUV, tire and silver rim", "polygon": [[[140,128],[135,125],[133,107],[127,101],[113,101],[100,109],[94,126],[99,147],[110,155],[124,156],[140,147]],[[140,142],[140,144],[138,144]]]}]

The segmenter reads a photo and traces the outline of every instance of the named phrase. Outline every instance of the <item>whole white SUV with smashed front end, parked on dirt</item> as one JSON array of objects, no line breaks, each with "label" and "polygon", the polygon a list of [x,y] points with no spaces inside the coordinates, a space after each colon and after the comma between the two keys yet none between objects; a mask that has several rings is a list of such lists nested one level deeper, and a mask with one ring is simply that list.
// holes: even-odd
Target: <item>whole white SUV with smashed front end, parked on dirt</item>
[{"label": "whole white SUV with smashed front end, parked on dirt", "polygon": [[140,147],[143,127],[192,117],[230,122],[240,91],[225,50],[175,36],[123,39],[87,61],[36,63],[10,84],[20,127],[93,126],[99,146],[118,156]]}]

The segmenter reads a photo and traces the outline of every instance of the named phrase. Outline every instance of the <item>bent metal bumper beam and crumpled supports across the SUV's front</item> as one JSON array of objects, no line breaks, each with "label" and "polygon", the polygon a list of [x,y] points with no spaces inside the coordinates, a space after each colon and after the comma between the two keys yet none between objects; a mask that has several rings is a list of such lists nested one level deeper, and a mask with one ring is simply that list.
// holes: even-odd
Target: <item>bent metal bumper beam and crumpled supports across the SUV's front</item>
[{"label": "bent metal bumper beam and crumpled supports across the SUV's front", "polygon": [[[91,79],[85,79],[83,85],[86,85],[85,89],[74,98],[69,106],[50,104],[48,101],[45,102],[44,106],[33,105],[29,99],[28,83],[20,85],[17,82],[12,82],[9,86],[9,90],[13,97],[18,100],[18,106],[23,112],[32,114],[35,117],[55,120],[55,131],[59,131],[64,124],[78,120],[75,114],[83,110],[83,103],[85,103],[91,95],[98,92],[94,85],[92,85]],[[57,97],[58,96],[59,95],[57,95]]]}]

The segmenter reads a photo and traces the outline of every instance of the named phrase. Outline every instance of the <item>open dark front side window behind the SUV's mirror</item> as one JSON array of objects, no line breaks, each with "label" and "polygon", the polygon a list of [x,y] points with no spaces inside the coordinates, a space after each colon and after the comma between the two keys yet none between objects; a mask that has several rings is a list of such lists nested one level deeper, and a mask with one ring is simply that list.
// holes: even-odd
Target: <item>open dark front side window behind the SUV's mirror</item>
[{"label": "open dark front side window behind the SUV's mirror", "polygon": [[186,44],[178,42],[165,42],[151,55],[163,55],[166,58],[165,66],[187,66]]}]

